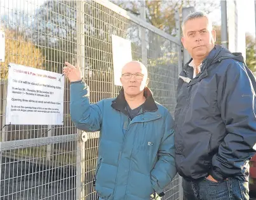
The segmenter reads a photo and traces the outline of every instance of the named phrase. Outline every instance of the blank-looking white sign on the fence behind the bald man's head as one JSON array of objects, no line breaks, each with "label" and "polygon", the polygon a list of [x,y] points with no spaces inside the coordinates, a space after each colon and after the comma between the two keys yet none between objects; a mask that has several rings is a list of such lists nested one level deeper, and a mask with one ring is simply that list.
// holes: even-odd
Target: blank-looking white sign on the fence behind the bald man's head
[{"label": "blank-looking white sign on the fence behind the bald man's head", "polygon": [[114,84],[121,86],[121,72],[123,66],[132,61],[131,41],[112,35],[112,54],[114,65]]}]

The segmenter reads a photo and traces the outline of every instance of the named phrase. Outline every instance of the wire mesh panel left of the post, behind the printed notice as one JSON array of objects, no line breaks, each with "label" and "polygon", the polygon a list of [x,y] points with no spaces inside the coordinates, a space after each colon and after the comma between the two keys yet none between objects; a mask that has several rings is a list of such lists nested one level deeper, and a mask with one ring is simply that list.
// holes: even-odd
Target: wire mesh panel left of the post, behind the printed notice
[{"label": "wire mesh panel left of the post, behind the printed notice", "polygon": [[[69,11],[66,12],[65,10]],[[1,72],[1,199],[75,199],[77,130],[65,82],[64,125],[7,125],[8,63],[62,73],[72,61],[76,16],[72,1],[1,0],[5,62]]]}]

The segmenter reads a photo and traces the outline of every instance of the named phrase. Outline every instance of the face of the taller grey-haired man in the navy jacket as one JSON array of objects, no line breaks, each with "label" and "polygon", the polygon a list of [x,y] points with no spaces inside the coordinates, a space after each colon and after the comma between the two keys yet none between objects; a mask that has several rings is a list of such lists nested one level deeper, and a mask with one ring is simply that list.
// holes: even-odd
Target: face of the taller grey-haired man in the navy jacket
[{"label": "face of the taller grey-haired man in the navy jacket", "polygon": [[193,59],[205,59],[216,42],[216,32],[206,17],[185,22],[183,34],[182,44]]}]

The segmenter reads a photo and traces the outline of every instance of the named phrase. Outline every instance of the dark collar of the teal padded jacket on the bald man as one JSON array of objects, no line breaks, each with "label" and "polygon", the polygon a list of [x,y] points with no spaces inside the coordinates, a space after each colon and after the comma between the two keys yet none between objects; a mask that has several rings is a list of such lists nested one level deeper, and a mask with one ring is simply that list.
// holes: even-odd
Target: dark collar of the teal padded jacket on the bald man
[{"label": "dark collar of the teal padded jacket on the bald man", "polygon": [[[144,113],[145,111],[156,111],[158,110],[158,106],[156,105],[153,97],[152,97],[152,92],[148,87],[145,87],[144,89],[144,96],[146,98],[145,103],[142,105],[142,112]],[[112,108],[121,111],[123,113],[126,113],[126,105],[127,102],[125,100],[125,92],[124,89],[122,88],[121,91],[119,92],[118,97],[112,101]]]}]

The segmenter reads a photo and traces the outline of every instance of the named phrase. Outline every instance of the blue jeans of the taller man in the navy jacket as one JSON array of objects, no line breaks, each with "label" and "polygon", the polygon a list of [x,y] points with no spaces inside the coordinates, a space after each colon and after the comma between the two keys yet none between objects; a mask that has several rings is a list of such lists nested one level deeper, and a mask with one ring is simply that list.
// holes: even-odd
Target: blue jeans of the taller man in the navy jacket
[{"label": "blue jeans of the taller man in the navy jacket", "polygon": [[184,200],[249,200],[249,183],[235,178],[213,182],[207,178],[182,180]]}]

